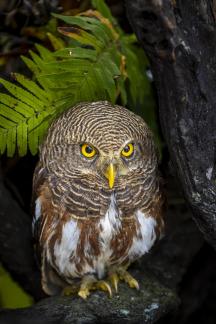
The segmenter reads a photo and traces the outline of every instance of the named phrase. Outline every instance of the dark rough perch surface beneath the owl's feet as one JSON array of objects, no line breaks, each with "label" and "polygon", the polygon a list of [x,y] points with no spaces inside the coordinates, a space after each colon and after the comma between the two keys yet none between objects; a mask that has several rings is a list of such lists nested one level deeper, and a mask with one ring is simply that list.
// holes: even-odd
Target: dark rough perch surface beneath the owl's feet
[{"label": "dark rough perch surface beneath the owl's feet", "polygon": [[85,301],[75,296],[50,297],[30,308],[0,312],[0,323],[154,323],[178,306],[175,292],[153,276],[138,269],[133,274],[139,291],[122,283],[112,298],[103,292],[92,293]]}]

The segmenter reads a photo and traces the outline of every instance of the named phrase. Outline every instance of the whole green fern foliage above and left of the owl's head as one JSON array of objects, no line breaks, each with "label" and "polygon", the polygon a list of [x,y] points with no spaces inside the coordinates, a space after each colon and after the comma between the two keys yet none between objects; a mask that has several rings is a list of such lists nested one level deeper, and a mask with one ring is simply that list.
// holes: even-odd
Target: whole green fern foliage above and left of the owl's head
[{"label": "whole green fern foliage above and left of the owl's head", "polygon": [[[14,73],[16,83],[0,79],[8,93],[0,95],[0,153],[20,156],[38,151],[50,122],[82,101],[120,97],[134,105],[143,101],[140,63],[134,36],[125,35],[103,0],[92,0],[98,11],[53,16],[67,24],[60,36],[48,34],[54,52],[41,45],[22,57],[33,77]],[[64,39],[61,35],[64,35]],[[66,38],[65,38],[66,36]],[[139,85],[138,85],[139,83]]]}]

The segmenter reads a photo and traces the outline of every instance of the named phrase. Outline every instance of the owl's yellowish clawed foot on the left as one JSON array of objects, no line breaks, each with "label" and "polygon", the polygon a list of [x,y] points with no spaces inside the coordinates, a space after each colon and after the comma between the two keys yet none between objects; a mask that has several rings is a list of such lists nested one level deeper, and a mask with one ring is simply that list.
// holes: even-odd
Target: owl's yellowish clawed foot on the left
[{"label": "owl's yellowish clawed foot on the left", "polygon": [[82,280],[78,295],[86,299],[90,295],[91,290],[107,291],[109,297],[112,297],[111,287],[105,280],[97,280],[94,276],[86,276]]}]

